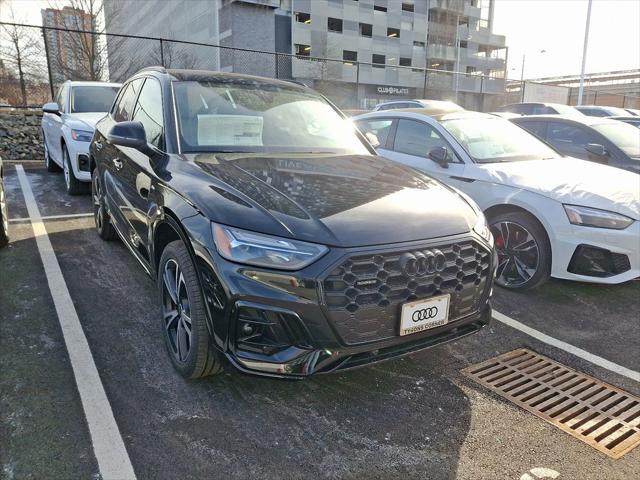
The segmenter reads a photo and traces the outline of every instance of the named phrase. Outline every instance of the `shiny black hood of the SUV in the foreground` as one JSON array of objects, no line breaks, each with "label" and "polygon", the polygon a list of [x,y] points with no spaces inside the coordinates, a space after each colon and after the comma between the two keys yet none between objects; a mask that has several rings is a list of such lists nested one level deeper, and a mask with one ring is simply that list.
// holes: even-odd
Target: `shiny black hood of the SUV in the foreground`
[{"label": "shiny black hood of the SUV in the foreground", "polygon": [[354,247],[465,233],[476,221],[460,195],[381,157],[192,154],[186,159],[181,174],[172,172],[177,188],[189,192],[211,220],[247,230]]}]

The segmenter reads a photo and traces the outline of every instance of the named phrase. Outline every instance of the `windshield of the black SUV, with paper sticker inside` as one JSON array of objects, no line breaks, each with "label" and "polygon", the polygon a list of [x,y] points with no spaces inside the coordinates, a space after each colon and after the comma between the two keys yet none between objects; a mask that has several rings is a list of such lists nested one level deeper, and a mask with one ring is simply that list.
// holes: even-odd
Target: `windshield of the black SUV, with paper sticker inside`
[{"label": "windshield of the black SUV, with paper sticker inside", "polygon": [[271,83],[174,82],[184,152],[369,151],[322,97]]}]

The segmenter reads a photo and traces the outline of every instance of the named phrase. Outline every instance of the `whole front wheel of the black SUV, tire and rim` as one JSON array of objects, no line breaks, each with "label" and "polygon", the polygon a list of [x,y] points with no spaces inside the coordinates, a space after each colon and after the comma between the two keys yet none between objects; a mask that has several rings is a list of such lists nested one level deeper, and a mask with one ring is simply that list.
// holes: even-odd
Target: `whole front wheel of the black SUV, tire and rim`
[{"label": "whole front wheel of the black SUV, tire and rim", "polygon": [[211,345],[198,274],[182,241],[171,242],[162,252],[157,287],[163,336],[173,366],[184,378],[220,373],[222,364]]}]

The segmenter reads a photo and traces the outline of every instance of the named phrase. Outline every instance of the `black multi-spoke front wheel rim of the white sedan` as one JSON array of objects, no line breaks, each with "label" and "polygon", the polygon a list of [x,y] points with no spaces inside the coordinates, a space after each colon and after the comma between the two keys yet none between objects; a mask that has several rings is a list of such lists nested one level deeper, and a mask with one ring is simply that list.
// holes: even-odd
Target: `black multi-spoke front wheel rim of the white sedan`
[{"label": "black multi-spoke front wheel rim of the white sedan", "polygon": [[535,237],[515,222],[491,225],[498,253],[496,283],[503,287],[521,287],[538,271],[540,249]]}]

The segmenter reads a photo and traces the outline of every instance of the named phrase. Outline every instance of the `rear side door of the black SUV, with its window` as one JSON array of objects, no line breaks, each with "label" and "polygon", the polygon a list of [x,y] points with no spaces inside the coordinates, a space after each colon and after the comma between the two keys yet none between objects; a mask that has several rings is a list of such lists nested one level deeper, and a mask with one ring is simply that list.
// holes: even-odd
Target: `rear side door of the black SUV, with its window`
[{"label": "rear side door of the black SUV, with its window", "polygon": [[[109,115],[109,122],[105,125],[105,134],[115,123],[126,122],[133,115],[133,108],[142,86],[144,79],[135,79],[122,87],[122,93],[119,95],[112,114]],[[105,135],[102,144],[101,162],[103,168],[103,186],[105,192],[105,202],[109,210],[111,219],[113,220],[116,230],[125,237],[125,241],[129,241],[130,226],[129,221],[123,216],[123,210],[120,206],[124,203],[123,184],[123,167],[125,157],[133,150],[127,147],[121,147],[111,143]]]}]

